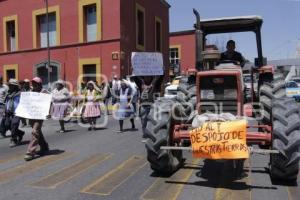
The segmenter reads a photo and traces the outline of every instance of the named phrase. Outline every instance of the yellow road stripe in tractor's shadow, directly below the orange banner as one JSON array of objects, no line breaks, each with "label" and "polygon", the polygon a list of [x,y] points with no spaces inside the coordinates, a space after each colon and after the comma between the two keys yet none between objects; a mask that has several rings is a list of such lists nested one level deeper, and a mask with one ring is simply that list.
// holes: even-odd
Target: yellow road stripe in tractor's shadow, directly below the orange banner
[{"label": "yellow road stripe in tractor's shadow, directly below the orange banner", "polygon": [[[245,161],[245,166],[249,168],[249,160]],[[251,190],[247,188],[250,185],[249,177],[244,177],[237,181],[227,180],[227,172],[223,173],[221,177],[220,186],[216,189],[215,200],[250,200],[251,199]],[[245,184],[246,188],[239,188],[239,184]],[[237,186],[236,186],[237,185]],[[226,186],[226,188],[223,188]],[[230,188],[232,187],[232,188]]]}]

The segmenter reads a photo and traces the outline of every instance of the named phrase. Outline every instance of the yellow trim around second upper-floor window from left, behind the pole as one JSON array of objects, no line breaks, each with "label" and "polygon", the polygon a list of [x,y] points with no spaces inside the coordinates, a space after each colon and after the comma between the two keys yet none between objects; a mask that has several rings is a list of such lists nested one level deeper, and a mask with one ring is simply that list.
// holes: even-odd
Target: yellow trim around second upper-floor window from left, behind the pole
[{"label": "yellow trim around second upper-floor window from left, behind the pole", "polygon": [[[60,45],[60,6],[51,6],[48,8],[49,13],[55,12],[56,15],[56,45]],[[32,39],[33,39],[33,48],[37,48],[37,21],[36,17],[39,15],[46,14],[46,8],[38,9],[32,11]]]}]

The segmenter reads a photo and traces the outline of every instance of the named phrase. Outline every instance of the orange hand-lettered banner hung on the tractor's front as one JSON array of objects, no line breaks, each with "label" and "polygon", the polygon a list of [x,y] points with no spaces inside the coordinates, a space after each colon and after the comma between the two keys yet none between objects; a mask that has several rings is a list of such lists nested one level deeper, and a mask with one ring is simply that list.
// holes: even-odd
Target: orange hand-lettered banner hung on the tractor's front
[{"label": "orange hand-lettered banner hung on the tractor's front", "polygon": [[246,120],[206,122],[190,132],[193,157],[207,159],[249,158]]}]

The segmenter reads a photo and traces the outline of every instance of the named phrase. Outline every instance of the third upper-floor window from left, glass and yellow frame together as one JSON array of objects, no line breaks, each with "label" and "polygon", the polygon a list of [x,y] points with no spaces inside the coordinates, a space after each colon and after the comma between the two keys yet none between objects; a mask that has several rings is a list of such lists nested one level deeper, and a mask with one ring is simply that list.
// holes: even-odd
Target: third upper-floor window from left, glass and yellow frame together
[{"label": "third upper-floor window from left, glass and yellow frame together", "polygon": [[79,42],[101,39],[100,5],[99,0],[79,0]]}]

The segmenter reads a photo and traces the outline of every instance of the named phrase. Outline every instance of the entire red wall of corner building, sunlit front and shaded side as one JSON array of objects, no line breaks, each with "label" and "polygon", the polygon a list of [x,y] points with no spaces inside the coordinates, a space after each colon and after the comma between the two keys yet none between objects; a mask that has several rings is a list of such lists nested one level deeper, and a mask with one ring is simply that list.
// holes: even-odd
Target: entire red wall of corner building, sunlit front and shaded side
[{"label": "entire red wall of corner building, sunlit front and shaded side", "polygon": [[[154,51],[154,22],[158,16],[163,21],[163,53],[168,66],[169,19],[168,6],[160,0],[99,0],[101,1],[102,40],[79,44],[78,0],[49,0],[49,6],[60,6],[60,41],[51,48],[51,60],[61,64],[60,77],[76,82],[80,58],[101,59],[101,71],[109,78],[130,73],[130,55],[135,47],[135,2],[146,9],[146,51]],[[32,11],[45,8],[44,0],[0,1],[0,19],[18,15],[19,51],[3,52],[3,27],[0,23],[0,74],[3,65],[18,64],[19,80],[32,78],[34,66],[47,59],[46,49],[32,49]],[[113,60],[112,52],[124,51],[124,59]],[[116,66],[115,69],[113,69]]]}]

